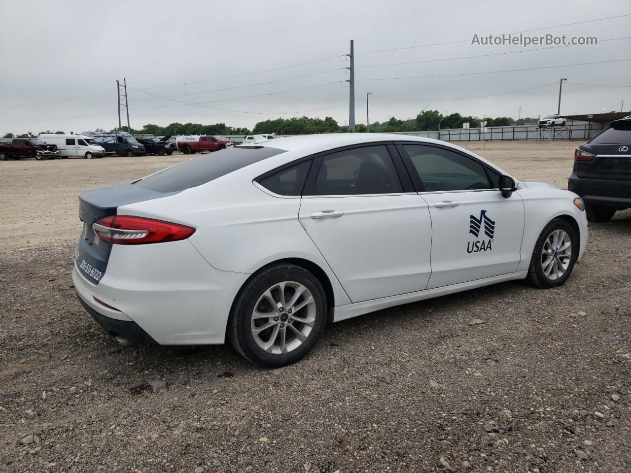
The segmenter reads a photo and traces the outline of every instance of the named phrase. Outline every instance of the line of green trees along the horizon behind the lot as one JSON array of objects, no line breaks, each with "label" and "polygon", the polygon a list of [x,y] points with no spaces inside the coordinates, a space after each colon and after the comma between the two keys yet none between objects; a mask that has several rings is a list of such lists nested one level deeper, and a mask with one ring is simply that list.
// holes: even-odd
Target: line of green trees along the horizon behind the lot
[{"label": "line of green trees along the horizon behind the lot", "polygon": [[[358,133],[388,133],[395,131],[435,131],[440,129],[462,128],[464,123],[469,123],[469,127],[480,127],[481,121],[487,122],[487,127],[493,126],[510,126],[510,125],[528,125],[536,124],[536,118],[522,118],[514,120],[510,117],[471,117],[471,115],[463,116],[459,113],[444,115],[438,110],[423,110],[416,115],[415,119],[400,120],[391,117],[386,122],[373,122],[369,127],[365,124],[357,124],[355,132]],[[299,134],[319,134],[319,133],[345,133],[348,132],[348,126],[339,125],[333,117],[321,118],[312,117],[293,117],[290,119],[278,118],[275,120],[262,120],[257,122],[252,130],[248,128],[230,127],[225,123],[216,123],[211,125],[203,125],[201,123],[179,123],[174,122],[165,127],[155,124],[146,124],[141,129],[128,129],[126,126],[121,128],[122,131],[131,134],[152,134],[153,136],[177,136],[177,135],[248,135],[257,133],[276,133],[281,135],[299,135]],[[96,129],[95,131],[103,131]],[[115,131],[115,130],[112,130]],[[42,131],[41,133],[53,133],[52,131]],[[64,134],[62,131],[54,132],[56,134]],[[20,135],[7,133],[4,138],[28,138],[35,137],[32,132]]]}]

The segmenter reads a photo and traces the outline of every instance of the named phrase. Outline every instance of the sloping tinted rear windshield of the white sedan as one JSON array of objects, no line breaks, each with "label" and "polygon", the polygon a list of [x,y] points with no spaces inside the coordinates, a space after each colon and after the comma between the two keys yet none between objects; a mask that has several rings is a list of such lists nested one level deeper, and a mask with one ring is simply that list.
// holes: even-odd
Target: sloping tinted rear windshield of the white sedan
[{"label": "sloping tinted rear windshield of the white sedan", "polygon": [[206,184],[237,169],[281,153],[285,153],[285,150],[268,146],[238,146],[221,149],[221,151],[198,156],[198,158],[166,168],[137,180],[133,184],[156,192],[176,192]]}]

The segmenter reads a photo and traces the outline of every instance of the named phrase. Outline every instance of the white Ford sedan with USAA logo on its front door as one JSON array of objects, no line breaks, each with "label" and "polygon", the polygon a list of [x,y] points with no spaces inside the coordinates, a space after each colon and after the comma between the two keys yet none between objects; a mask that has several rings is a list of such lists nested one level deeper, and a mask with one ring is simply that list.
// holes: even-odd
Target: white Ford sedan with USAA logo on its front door
[{"label": "white Ford sedan with USAA logo on its front door", "polygon": [[122,344],[221,344],[277,367],[325,322],[488,284],[563,284],[583,202],[444,141],[274,139],[80,196],[73,281]]}]

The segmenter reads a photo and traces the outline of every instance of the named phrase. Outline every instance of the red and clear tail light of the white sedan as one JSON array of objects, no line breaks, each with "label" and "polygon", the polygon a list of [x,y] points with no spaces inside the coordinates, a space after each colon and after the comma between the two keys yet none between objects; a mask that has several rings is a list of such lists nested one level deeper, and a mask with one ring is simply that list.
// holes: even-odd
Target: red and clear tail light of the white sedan
[{"label": "red and clear tail light of the white sedan", "polygon": [[92,224],[98,238],[119,245],[177,242],[186,240],[195,229],[191,226],[131,215],[112,215]]}]

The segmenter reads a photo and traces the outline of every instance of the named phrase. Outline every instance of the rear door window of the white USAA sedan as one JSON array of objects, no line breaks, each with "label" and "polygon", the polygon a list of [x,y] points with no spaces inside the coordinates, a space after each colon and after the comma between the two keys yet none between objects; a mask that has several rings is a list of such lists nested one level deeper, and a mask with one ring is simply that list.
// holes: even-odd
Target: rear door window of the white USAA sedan
[{"label": "rear door window of the white USAA sedan", "polygon": [[384,145],[363,146],[322,156],[308,191],[315,196],[360,196],[403,192]]}]

